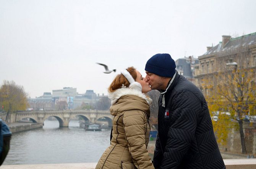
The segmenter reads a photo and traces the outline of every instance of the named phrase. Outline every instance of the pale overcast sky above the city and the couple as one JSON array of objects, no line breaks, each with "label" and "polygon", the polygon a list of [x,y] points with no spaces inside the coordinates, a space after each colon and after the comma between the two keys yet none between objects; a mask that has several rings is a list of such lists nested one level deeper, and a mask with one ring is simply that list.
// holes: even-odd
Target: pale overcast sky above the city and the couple
[{"label": "pale overcast sky above the city and the couple", "polygon": [[[198,56],[256,32],[255,0],[0,0],[0,84],[28,97],[73,87],[107,88],[122,69],[145,76],[147,60]],[[104,74],[104,63],[117,72]]]}]

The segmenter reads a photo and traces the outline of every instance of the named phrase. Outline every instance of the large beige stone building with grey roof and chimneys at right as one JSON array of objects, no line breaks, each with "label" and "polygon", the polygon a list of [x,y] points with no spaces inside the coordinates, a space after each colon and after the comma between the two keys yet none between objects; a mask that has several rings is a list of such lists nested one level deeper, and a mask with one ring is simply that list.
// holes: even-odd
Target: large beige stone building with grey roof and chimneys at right
[{"label": "large beige stone building with grey roof and chimneys at right", "polygon": [[209,91],[204,88],[206,80],[217,85],[218,79],[214,75],[218,72],[229,71],[232,64],[236,68],[256,68],[256,32],[232,38],[223,35],[222,41],[214,47],[207,47],[206,53],[198,56],[199,64],[194,65],[195,84],[204,95]]}]

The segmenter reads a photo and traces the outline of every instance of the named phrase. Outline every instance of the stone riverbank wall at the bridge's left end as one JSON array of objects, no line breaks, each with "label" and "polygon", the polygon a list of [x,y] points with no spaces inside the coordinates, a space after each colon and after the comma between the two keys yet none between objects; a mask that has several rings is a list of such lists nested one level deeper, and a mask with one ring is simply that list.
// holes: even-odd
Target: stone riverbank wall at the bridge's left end
[{"label": "stone riverbank wall at the bridge's left end", "polygon": [[43,124],[30,122],[14,122],[8,123],[7,125],[9,126],[11,133],[23,132],[43,127]]}]

